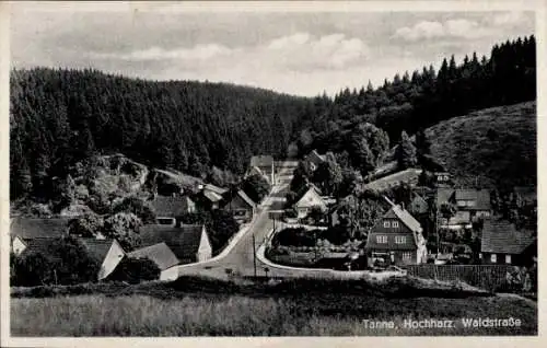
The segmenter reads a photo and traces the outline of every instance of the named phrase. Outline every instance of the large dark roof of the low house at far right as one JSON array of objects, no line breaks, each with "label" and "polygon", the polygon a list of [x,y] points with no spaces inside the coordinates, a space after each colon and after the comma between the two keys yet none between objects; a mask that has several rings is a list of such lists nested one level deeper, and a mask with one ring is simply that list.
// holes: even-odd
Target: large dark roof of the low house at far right
[{"label": "large dark roof of the low house at far right", "polygon": [[482,253],[521,254],[536,237],[532,231],[519,231],[509,221],[485,221],[480,251]]}]

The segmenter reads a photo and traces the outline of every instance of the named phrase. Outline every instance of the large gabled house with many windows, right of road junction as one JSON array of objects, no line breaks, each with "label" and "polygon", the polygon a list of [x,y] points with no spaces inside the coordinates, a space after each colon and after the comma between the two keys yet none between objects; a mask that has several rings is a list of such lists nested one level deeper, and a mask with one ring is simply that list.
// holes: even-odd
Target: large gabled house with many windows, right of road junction
[{"label": "large gabled house with many windows, right of road junction", "polygon": [[420,223],[400,206],[386,200],[391,205],[389,210],[372,228],[366,239],[368,264],[426,263],[428,253]]}]

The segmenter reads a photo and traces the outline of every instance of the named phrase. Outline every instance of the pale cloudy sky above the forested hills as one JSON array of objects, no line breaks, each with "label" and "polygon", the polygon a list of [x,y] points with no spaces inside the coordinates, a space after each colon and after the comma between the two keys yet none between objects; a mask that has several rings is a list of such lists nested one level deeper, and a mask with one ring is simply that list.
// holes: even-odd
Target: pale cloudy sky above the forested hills
[{"label": "pale cloudy sky above the forested hills", "polygon": [[[160,9],[160,10],[159,10]],[[534,12],[189,11],[12,3],[13,68],[96,68],[329,95],[534,34]]]}]

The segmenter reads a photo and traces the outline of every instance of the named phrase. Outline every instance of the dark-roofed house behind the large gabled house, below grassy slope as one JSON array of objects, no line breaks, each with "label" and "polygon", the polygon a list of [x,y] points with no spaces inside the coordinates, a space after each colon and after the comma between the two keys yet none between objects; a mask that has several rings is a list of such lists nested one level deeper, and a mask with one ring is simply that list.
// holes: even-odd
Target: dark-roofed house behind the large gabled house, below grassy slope
[{"label": "dark-roofed house behind the large gabled house, below grassy slope", "polygon": [[437,190],[437,207],[443,204],[456,206],[458,211],[469,211],[470,218],[490,218],[490,193],[486,189],[439,188]]}]

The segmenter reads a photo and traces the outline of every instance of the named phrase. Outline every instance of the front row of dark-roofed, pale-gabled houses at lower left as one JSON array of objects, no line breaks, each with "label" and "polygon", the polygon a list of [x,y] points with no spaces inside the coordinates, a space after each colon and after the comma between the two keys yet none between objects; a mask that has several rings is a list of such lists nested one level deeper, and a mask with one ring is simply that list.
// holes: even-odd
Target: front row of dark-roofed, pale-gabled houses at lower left
[{"label": "front row of dark-roofed, pale-gabled houses at lower left", "polygon": [[[53,256],[54,243],[68,235],[69,219],[11,219],[11,252],[15,255],[40,253]],[[101,265],[97,279],[106,279],[124,257],[149,258],[161,270],[160,279],[173,276],[173,266],[207,260],[212,257],[211,243],[202,224],[148,224],[140,229],[141,244],[126,252],[116,240],[79,237],[89,255]]]}]

